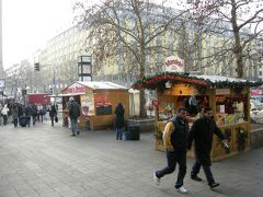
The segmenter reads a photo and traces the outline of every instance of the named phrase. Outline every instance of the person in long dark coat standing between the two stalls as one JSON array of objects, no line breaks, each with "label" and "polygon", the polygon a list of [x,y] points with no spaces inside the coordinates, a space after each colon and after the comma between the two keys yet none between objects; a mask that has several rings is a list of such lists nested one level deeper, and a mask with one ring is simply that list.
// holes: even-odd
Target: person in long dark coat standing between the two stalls
[{"label": "person in long dark coat standing between the two stalls", "polygon": [[124,119],[125,109],[122,103],[117,104],[115,108],[115,114],[116,114],[116,118],[115,118],[116,140],[122,140],[124,126],[125,126],[125,119]]}]

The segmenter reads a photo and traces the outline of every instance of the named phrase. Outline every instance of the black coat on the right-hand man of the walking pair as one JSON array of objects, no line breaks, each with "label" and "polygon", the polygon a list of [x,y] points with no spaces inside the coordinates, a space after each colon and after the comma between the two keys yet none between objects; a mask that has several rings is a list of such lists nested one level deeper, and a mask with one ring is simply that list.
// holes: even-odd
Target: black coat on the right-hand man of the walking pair
[{"label": "black coat on the right-hand man of the walking pair", "polygon": [[221,140],[225,139],[224,134],[217,127],[214,119],[207,119],[205,117],[197,119],[190,131],[188,149],[194,140],[195,155],[197,160],[204,164],[210,166],[210,151],[213,144],[213,134],[217,135]]}]

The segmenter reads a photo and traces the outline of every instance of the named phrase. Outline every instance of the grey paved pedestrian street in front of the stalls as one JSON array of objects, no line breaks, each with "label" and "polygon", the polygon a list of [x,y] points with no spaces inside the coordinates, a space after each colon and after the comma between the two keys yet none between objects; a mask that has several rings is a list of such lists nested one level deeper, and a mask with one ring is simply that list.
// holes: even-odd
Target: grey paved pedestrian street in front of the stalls
[{"label": "grey paved pedestrian street in front of the stalls", "polygon": [[70,137],[68,128],[49,123],[30,128],[0,127],[0,197],[259,197],[263,194],[263,149],[213,163],[220,186],[210,190],[205,182],[190,179],[193,159],[187,160],[185,187],[174,188],[176,173],[161,185],[152,172],[165,166],[165,154],[155,150],[153,134],[139,141],[117,141],[112,130],[85,131]]}]

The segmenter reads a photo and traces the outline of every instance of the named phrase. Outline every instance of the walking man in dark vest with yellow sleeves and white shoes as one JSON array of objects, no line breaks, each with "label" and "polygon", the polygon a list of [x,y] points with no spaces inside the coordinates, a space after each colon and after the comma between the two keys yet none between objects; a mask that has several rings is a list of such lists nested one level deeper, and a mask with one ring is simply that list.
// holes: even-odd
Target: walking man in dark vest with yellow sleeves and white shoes
[{"label": "walking man in dark vest with yellow sleeves and white shoes", "polygon": [[163,142],[167,149],[168,166],[153,173],[153,181],[159,185],[161,177],[173,173],[178,163],[179,173],[175,188],[180,193],[187,193],[187,189],[183,186],[183,179],[186,174],[188,140],[188,123],[186,116],[186,108],[181,106],[178,108],[176,116],[167,123],[163,131]]}]

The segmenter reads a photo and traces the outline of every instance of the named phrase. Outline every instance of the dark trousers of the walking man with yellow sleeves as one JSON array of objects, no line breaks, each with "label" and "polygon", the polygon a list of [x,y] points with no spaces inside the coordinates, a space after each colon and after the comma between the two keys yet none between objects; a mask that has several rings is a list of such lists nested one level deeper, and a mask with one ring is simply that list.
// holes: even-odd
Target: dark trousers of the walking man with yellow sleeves
[{"label": "dark trousers of the walking man with yellow sleeves", "polygon": [[161,178],[165,174],[174,172],[176,163],[179,164],[178,181],[175,187],[183,186],[183,179],[186,174],[186,151],[167,151],[168,166],[157,171],[156,176]]}]

